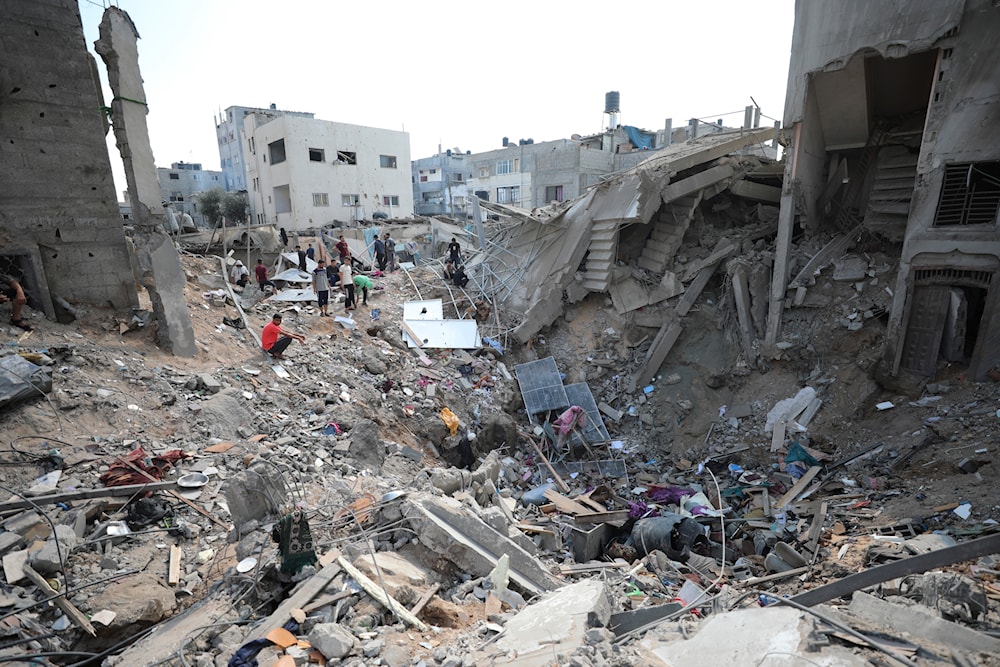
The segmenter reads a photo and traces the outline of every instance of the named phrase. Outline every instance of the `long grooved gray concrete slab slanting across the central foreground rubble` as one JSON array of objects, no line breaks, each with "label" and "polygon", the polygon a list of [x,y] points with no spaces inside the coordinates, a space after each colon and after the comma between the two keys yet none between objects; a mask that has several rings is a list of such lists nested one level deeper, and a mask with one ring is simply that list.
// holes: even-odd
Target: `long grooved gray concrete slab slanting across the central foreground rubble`
[{"label": "long grooved gray concrete slab slanting across the central foreground rubble", "polygon": [[486,576],[506,554],[511,583],[522,590],[539,595],[562,584],[537,558],[457,500],[410,496],[403,504],[403,515],[421,544],[473,576]]}]

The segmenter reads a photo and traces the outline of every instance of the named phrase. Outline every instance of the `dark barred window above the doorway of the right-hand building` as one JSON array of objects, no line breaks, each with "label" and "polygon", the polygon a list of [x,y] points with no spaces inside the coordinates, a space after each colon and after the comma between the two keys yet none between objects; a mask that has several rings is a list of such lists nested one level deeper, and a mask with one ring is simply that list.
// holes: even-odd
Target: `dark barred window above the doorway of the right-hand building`
[{"label": "dark barred window above the doorway of the right-hand building", "polygon": [[992,225],[1000,209],[1000,162],[949,164],[944,170],[936,227]]}]

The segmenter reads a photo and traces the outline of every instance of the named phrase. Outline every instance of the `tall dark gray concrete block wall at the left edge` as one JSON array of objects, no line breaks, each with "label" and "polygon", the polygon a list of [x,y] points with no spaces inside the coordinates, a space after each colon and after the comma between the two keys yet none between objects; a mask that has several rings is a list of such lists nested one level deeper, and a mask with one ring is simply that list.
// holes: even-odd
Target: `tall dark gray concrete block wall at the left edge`
[{"label": "tall dark gray concrete block wall at the left edge", "polygon": [[138,306],[76,1],[4,2],[0,44],[0,254],[49,317],[50,296]]}]

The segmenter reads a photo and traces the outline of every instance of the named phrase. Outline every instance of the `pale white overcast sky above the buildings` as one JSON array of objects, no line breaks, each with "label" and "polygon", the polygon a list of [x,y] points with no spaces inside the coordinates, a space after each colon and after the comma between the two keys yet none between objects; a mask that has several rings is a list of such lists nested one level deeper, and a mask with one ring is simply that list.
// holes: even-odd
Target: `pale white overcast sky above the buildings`
[{"label": "pale white overcast sky above the buildings", "polygon": [[[93,52],[109,0],[79,0]],[[413,159],[619,122],[780,119],[794,0],[115,0],[139,31],[156,164],[219,169],[230,106],[405,130]],[[104,63],[96,56],[107,89]],[[738,112],[733,115],[725,115]],[[768,122],[768,121],[764,121]],[[113,145],[113,144],[112,144]],[[112,152],[115,182],[125,187]]]}]

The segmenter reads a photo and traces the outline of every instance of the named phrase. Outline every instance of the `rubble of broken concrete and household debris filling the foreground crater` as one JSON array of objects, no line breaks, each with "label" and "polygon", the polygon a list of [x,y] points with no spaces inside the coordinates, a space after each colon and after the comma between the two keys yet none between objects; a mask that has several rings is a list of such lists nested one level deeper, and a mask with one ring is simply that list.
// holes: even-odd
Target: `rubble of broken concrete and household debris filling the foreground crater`
[{"label": "rubble of broken concrete and household debris filling the foreground crater", "polygon": [[[767,252],[738,247],[726,275]],[[880,391],[861,367],[888,260],[851,257],[766,362],[712,352],[735,309],[709,284],[676,361],[635,387],[656,309],[599,296],[525,346],[411,346],[407,303],[498,317],[435,286],[433,260],[338,321],[186,257],[195,360],[141,316],[39,321],[3,357],[30,368],[3,407],[0,656],[994,664],[1000,390]],[[254,338],[276,311],[306,336],[280,365]],[[583,418],[536,410],[542,367],[590,397]]]}]

